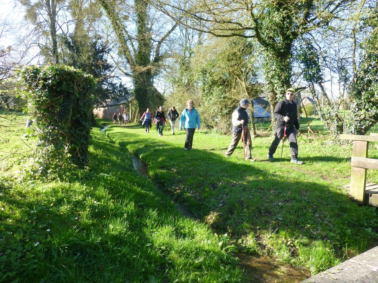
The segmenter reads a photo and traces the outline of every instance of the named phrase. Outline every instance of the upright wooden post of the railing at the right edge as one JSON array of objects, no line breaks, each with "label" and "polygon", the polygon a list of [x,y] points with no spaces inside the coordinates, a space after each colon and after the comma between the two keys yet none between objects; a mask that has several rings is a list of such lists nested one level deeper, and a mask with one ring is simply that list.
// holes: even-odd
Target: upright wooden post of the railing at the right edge
[{"label": "upright wooden post of the railing at the right edge", "polygon": [[[353,141],[353,157],[367,158],[369,141]],[[350,191],[349,194],[356,199],[358,203],[363,204],[365,201],[366,186],[366,169],[352,166],[350,172]]]}]

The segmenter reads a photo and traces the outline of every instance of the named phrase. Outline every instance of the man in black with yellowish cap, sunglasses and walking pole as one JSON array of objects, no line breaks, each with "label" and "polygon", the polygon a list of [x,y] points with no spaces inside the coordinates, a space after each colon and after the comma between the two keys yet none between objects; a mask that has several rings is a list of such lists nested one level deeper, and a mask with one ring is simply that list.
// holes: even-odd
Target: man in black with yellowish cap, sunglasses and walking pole
[{"label": "man in black with yellowish cap, sunglasses and walking pole", "polygon": [[286,91],[285,98],[279,101],[274,109],[274,117],[277,119],[276,123],[276,136],[272,142],[272,145],[268,151],[268,159],[274,161],[273,154],[276,152],[277,146],[283,138],[283,132],[285,131],[285,125],[287,126],[286,136],[290,142],[291,149],[291,163],[298,165],[303,164],[298,160],[298,145],[297,134],[299,132],[299,123],[297,118],[297,105],[294,103],[295,90],[289,88]]}]

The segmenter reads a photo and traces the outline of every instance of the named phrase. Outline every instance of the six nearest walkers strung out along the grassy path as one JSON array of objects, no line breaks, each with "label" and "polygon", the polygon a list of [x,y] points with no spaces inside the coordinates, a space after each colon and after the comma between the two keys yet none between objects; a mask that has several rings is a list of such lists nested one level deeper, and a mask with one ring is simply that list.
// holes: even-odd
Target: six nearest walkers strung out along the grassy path
[{"label": "six nearest walkers strung out along the grassy path", "polygon": [[[295,90],[289,88],[286,91],[285,98],[277,103],[274,109],[274,117],[277,119],[276,122],[276,134],[274,140],[268,150],[267,157],[270,161],[274,161],[274,153],[276,152],[277,146],[280,141],[288,137],[291,149],[291,162],[301,165],[303,162],[298,159],[298,145],[297,145],[297,134],[299,132],[299,123],[297,118],[297,105],[294,103]],[[240,139],[242,139],[244,159],[254,161],[251,155],[252,139],[251,133],[248,128],[248,113],[247,109],[251,103],[247,98],[240,100],[239,106],[232,113],[232,136],[231,143],[225,153],[226,157],[229,157],[237,147]],[[181,112],[181,116],[178,114],[177,110],[173,106],[168,112],[168,118],[172,129],[172,135],[175,134],[175,123],[178,117],[180,117],[180,131],[184,128],[186,131],[186,139],[184,144],[184,150],[192,150],[193,137],[195,129],[200,129],[200,115],[197,109],[193,106],[193,101],[188,100],[186,103],[187,107]],[[253,109],[251,110],[253,111]],[[142,121],[142,126],[149,132],[152,124],[156,126],[156,131],[161,136],[163,135],[163,129],[166,123],[165,114],[163,111],[163,106],[160,106],[158,111],[156,111],[155,118],[147,108],[147,111],[143,113],[140,121]],[[153,120],[153,121],[152,121]]]}]

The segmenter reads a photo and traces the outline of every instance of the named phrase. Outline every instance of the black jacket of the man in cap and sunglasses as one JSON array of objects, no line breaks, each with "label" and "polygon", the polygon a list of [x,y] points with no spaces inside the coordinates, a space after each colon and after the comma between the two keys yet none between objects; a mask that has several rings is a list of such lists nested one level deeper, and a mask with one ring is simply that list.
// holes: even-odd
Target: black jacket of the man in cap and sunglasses
[{"label": "black jacket of the man in cap and sunglasses", "polygon": [[276,108],[274,109],[273,113],[274,117],[277,119],[276,128],[277,129],[283,129],[285,128],[285,118],[288,116],[290,118],[288,122],[288,128],[295,127],[297,130],[299,130],[299,123],[298,123],[298,117],[297,117],[297,105],[294,101],[289,102],[286,98],[283,98],[283,100],[279,101],[276,105]]}]

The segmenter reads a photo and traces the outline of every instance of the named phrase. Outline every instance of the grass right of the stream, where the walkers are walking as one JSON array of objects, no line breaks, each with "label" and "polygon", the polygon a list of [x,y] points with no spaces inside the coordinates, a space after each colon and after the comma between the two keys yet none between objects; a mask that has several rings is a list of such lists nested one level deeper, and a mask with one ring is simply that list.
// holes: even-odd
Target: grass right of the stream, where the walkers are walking
[{"label": "grass right of the stream, where the walkers are walking", "polygon": [[[327,138],[298,137],[302,166],[268,162],[272,137],[253,140],[257,162],[244,163],[242,148],[224,153],[229,136],[196,131],[194,150],[184,151],[184,131],[162,137],[136,125],[107,130],[116,143],[149,166],[150,178],[220,233],[228,232],[249,252],[274,255],[312,274],[377,244],[376,208],[360,206],[339,188],[349,183],[350,145]],[[279,150],[275,157],[279,158]],[[371,143],[369,157],[378,157]],[[378,183],[378,171],[367,180]]]}]

